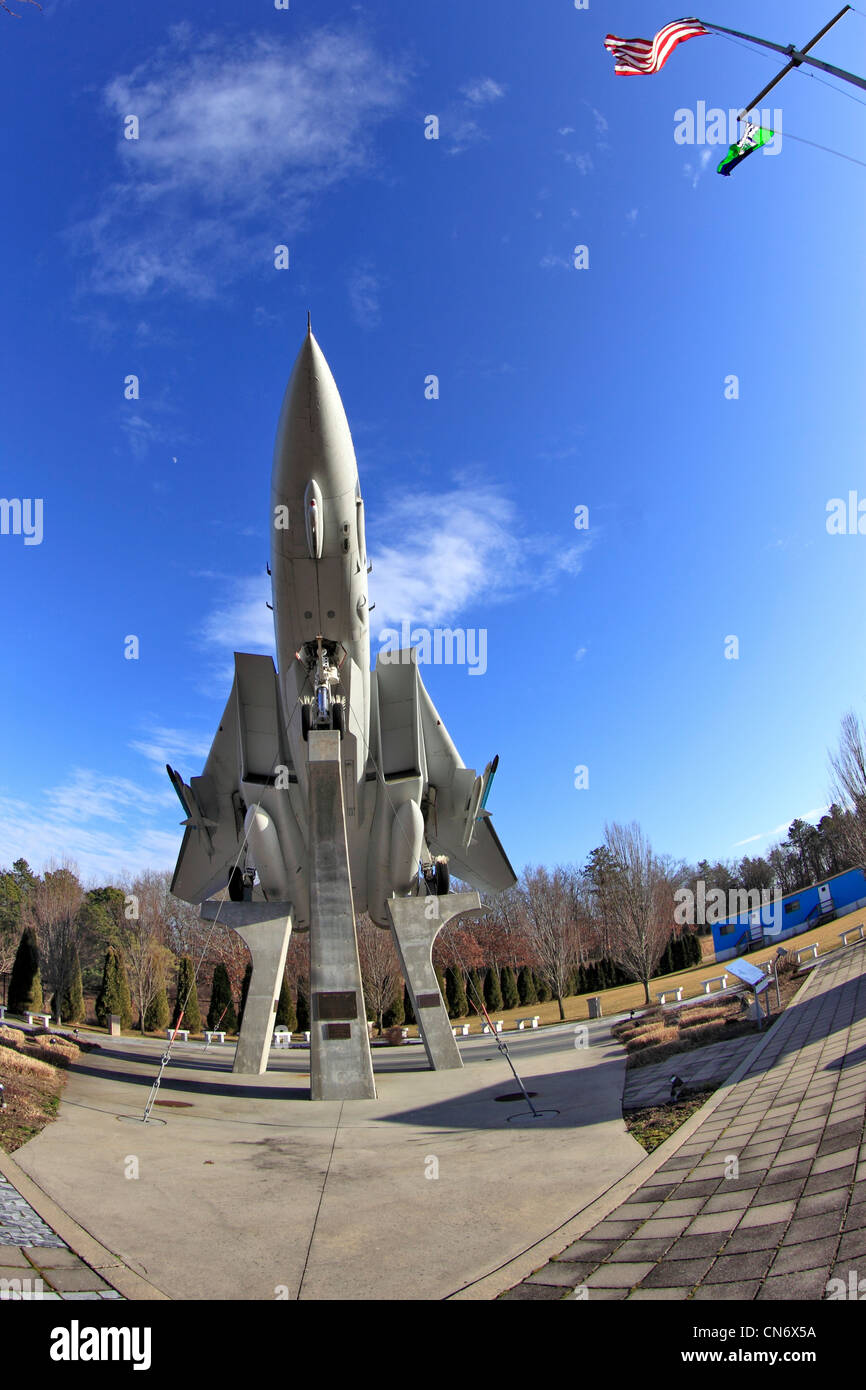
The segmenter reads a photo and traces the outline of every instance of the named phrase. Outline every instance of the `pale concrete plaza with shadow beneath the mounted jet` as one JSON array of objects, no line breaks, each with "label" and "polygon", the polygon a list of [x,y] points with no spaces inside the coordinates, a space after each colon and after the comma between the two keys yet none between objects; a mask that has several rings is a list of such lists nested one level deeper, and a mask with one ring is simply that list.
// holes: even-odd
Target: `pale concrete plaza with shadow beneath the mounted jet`
[{"label": "pale concrete plaza with shadow beneath the mounted jet", "polygon": [[307,1052],[274,1052],[272,1070],[245,1077],[232,1049],[178,1044],[145,1126],[164,1044],[101,1040],[15,1161],[171,1298],[443,1298],[488,1277],[499,1293],[498,1269],[644,1158],[621,1118],[609,1022],[580,1033],[589,1047],[574,1027],[509,1038],[552,1112],[535,1122],[480,1037],[461,1044],[460,1072],[427,1070],[420,1048],[377,1048],[378,1099],[342,1104],[307,1099]]}]

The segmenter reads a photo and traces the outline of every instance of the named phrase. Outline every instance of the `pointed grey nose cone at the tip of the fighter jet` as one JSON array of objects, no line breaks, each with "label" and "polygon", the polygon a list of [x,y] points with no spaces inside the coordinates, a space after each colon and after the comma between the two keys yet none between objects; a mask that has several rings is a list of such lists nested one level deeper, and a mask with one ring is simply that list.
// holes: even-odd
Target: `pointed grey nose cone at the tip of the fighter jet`
[{"label": "pointed grey nose cone at the tip of the fighter jet", "polygon": [[274,492],[297,498],[310,478],[322,498],[336,498],[354,489],[357,466],[336,382],[307,318],[277,425]]}]

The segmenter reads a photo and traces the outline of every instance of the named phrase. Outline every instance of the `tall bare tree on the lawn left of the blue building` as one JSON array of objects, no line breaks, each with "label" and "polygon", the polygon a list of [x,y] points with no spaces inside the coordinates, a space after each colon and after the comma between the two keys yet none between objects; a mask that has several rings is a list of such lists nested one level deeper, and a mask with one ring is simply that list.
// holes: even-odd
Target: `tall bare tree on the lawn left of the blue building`
[{"label": "tall bare tree on the lawn left of the blue building", "polygon": [[610,954],[641,981],[649,1004],[649,981],[673,927],[677,869],[653,853],[637,821],[605,826],[605,848],[612,872],[606,876],[602,910],[610,927]]}]

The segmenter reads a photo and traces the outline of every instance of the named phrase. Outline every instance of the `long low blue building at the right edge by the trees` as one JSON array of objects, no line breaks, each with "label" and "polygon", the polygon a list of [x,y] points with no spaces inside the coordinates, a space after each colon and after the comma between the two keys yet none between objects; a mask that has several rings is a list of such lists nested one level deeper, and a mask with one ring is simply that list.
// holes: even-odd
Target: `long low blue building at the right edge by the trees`
[{"label": "long low blue building at the right edge by the trees", "polygon": [[780,894],[763,906],[759,906],[758,894],[752,894],[748,901],[744,890],[728,898],[735,901],[740,910],[724,922],[713,923],[716,960],[730,960],[755,947],[774,945],[785,937],[866,908],[866,870],[845,869],[809,888],[785,897]]}]

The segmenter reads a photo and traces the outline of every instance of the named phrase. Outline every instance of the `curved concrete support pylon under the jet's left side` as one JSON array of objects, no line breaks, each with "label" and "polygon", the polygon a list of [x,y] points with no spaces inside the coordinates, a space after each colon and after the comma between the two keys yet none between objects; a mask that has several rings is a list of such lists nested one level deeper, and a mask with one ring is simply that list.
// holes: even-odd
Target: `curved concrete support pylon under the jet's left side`
[{"label": "curved concrete support pylon under the jet's left side", "polygon": [[206,922],[220,920],[222,926],[231,927],[250,948],[253,974],[232,1072],[261,1076],[267,1072],[292,935],[292,906],[288,902],[203,902],[202,916]]}]

